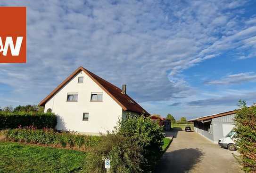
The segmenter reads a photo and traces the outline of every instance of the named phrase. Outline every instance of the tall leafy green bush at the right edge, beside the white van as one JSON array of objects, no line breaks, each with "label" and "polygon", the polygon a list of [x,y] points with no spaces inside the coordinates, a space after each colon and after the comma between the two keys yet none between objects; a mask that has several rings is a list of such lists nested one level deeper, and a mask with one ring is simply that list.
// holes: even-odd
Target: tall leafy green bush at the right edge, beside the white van
[{"label": "tall leafy green bush at the right edge, beside the white van", "polygon": [[235,125],[239,161],[246,173],[256,173],[256,106],[247,107],[245,101],[240,101]]}]

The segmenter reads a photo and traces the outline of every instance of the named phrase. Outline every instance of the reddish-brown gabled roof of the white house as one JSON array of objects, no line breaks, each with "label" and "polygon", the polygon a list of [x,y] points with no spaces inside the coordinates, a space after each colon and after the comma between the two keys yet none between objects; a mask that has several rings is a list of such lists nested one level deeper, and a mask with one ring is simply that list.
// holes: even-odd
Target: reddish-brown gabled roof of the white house
[{"label": "reddish-brown gabled roof of the white house", "polygon": [[45,106],[46,102],[52,98],[61,88],[68,83],[77,73],[83,71],[86,75],[88,75],[95,83],[99,85],[99,87],[104,90],[111,98],[113,98],[118,105],[120,105],[124,111],[131,111],[135,113],[149,113],[143,109],[137,102],[135,102],[132,98],[130,98],[127,94],[123,94],[122,90],[112,83],[107,82],[102,79],[98,75],[93,74],[89,70],[79,67],[77,68],[71,75],[69,75],[62,83],[58,85],[46,98],[44,98],[39,105]]}]

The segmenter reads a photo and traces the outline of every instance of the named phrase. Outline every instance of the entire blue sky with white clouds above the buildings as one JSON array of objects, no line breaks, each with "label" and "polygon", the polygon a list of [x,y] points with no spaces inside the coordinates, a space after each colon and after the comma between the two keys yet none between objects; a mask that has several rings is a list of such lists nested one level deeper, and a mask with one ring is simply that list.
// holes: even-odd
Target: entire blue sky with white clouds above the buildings
[{"label": "entire blue sky with white clouds above the buildings", "polygon": [[83,66],[150,113],[256,101],[254,0],[0,0],[27,7],[27,63],[0,64],[0,106],[38,104]]}]

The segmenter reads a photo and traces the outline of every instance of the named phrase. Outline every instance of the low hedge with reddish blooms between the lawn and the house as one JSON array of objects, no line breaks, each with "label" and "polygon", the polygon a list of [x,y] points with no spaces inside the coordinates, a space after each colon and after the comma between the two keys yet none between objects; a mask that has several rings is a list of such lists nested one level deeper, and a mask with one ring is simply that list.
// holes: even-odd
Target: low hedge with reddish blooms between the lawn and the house
[{"label": "low hedge with reddish blooms between the lawn and the house", "polygon": [[100,142],[100,136],[76,135],[70,132],[58,132],[53,129],[9,129],[2,130],[1,135],[7,139],[26,142],[53,145],[61,148],[73,148],[75,150],[88,150]]}]

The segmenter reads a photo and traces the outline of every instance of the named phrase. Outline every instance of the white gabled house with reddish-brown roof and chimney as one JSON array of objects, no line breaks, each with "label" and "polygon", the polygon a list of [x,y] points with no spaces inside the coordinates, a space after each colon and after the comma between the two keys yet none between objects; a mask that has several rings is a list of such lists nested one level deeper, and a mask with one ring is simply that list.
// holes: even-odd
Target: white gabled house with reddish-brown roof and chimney
[{"label": "white gabled house with reddish-brown roof and chimney", "polygon": [[96,135],[111,131],[127,113],[147,114],[123,90],[91,73],[77,68],[40,103],[44,112],[57,114],[57,130]]}]

